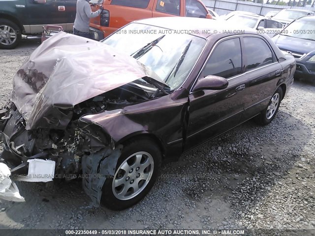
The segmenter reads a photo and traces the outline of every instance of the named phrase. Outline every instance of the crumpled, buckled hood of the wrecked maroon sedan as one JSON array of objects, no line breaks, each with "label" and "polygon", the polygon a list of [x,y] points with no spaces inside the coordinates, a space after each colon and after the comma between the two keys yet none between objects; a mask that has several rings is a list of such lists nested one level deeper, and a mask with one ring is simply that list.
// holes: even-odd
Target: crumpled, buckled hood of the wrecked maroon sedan
[{"label": "crumpled, buckled hood of the wrecked maroon sedan", "polygon": [[69,108],[153,75],[136,59],[104,43],[59,32],[44,41],[18,70],[11,100],[25,118],[26,129],[63,129],[69,120],[60,118],[68,116]]}]

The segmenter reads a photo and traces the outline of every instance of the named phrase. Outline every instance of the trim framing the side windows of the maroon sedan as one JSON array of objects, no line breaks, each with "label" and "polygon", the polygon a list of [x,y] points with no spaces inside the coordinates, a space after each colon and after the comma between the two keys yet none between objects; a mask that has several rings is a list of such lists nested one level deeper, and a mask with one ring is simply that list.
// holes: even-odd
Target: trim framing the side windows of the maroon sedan
[{"label": "trim framing the side windows of the maroon sedan", "polygon": [[[267,64],[267,65],[263,65],[263,66],[261,66],[261,67],[258,67],[258,68],[249,70],[249,71],[245,71],[245,68],[246,68],[246,67],[245,67],[245,61],[244,61],[244,57],[245,57],[245,56],[244,56],[244,53],[243,53],[243,45],[244,45],[243,37],[257,37],[257,38],[260,38],[260,39],[264,40],[264,41],[267,43],[268,47],[270,48],[270,50],[271,50],[271,52],[272,52],[272,55],[273,55],[273,57],[275,57],[275,60],[276,60],[276,61],[273,62],[273,63]],[[265,67],[267,67],[267,66],[270,66],[270,65],[279,63],[279,60],[278,60],[278,58],[277,58],[277,56],[276,56],[276,54],[275,54],[273,48],[272,48],[271,45],[269,44],[269,42],[268,42],[264,37],[262,37],[262,36],[260,36],[260,35],[255,35],[255,34],[237,34],[237,35],[230,35],[230,36],[221,38],[221,39],[219,39],[217,42],[215,42],[215,44],[212,46],[212,48],[211,48],[211,50],[210,50],[210,52],[209,52],[207,58],[206,58],[205,61],[203,62],[203,65],[201,66],[201,69],[200,69],[198,75],[196,76],[196,78],[194,79],[194,81],[193,81],[193,83],[192,83],[192,86],[190,87],[189,95],[193,93],[193,92],[192,92],[192,89],[194,88],[195,84],[197,83],[198,78],[200,78],[201,73],[203,72],[203,70],[204,70],[204,68],[205,68],[205,66],[206,66],[206,64],[207,64],[207,62],[208,62],[208,60],[210,59],[210,57],[211,57],[211,55],[213,54],[213,51],[214,51],[214,49],[217,47],[217,45],[218,45],[219,43],[221,43],[222,41],[224,41],[224,40],[232,39],[232,38],[240,38],[240,41],[241,41],[241,50],[242,50],[242,73],[241,73],[241,74],[238,74],[238,75],[235,75],[235,76],[233,76],[233,77],[228,78],[227,81],[237,79],[238,77],[243,76],[243,75],[246,75],[246,74],[248,74],[248,73],[252,73],[253,71],[256,71],[256,70],[265,68]],[[243,64],[243,63],[244,63],[244,64]]]}]

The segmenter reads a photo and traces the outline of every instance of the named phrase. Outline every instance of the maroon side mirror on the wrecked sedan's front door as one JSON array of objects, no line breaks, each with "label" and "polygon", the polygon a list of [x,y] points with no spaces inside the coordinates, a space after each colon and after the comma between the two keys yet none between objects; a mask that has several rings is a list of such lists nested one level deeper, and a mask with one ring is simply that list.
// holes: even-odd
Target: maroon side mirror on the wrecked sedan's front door
[{"label": "maroon side mirror on the wrecked sedan's front door", "polygon": [[199,78],[193,87],[192,91],[200,90],[221,90],[226,89],[228,86],[228,81],[225,78],[215,75],[208,75],[204,78]]}]

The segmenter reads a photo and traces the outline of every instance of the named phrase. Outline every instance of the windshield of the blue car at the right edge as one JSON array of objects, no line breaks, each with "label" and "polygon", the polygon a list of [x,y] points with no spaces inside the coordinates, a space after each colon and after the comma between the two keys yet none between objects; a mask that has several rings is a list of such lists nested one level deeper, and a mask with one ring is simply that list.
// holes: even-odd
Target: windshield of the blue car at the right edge
[{"label": "windshield of the blue car at the right edge", "polygon": [[315,21],[295,21],[288,25],[281,33],[294,38],[315,40]]}]

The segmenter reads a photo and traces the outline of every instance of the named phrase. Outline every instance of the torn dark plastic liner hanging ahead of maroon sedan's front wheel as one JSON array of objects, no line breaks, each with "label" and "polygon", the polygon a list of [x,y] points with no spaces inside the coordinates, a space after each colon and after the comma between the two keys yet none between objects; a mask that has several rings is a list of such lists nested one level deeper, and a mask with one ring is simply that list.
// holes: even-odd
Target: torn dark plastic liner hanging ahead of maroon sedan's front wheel
[{"label": "torn dark plastic liner hanging ahead of maroon sedan's front wheel", "polygon": [[123,146],[120,145],[114,150],[102,149],[82,157],[83,189],[90,196],[95,207],[99,206],[102,187],[106,178],[115,175],[115,168],[122,148]]}]

